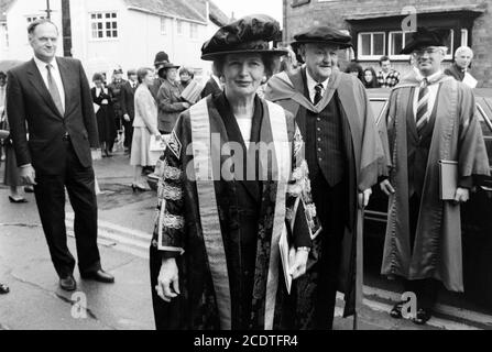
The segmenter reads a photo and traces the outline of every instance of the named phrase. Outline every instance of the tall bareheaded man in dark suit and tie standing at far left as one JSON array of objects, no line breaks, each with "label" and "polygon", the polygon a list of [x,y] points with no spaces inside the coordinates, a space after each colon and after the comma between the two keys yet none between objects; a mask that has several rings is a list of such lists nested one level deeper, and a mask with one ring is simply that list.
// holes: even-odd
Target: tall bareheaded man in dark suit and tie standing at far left
[{"label": "tall bareheaded man in dark suit and tie standing at far left", "polygon": [[80,62],[55,58],[58,29],[54,23],[34,21],[28,32],[34,58],[9,72],[7,89],[8,118],[21,177],[34,185],[59,286],[76,289],[75,258],[67,248],[65,229],[65,187],[75,211],[80,276],[112,283],[114,277],[101,268],[97,246],[90,148],[98,146],[98,133],[86,74]]}]

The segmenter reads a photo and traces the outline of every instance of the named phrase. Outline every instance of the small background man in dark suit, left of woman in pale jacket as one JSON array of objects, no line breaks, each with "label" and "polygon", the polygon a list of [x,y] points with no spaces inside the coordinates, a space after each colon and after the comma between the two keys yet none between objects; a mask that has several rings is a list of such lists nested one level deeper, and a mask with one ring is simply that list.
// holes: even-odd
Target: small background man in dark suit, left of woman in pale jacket
[{"label": "small background man in dark suit, left of woman in pale jacket", "polygon": [[125,154],[130,154],[132,147],[133,119],[135,118],[135,91],[138,86],[136,72],[134,69],[129,69],[128,80],[124,82],[121,92]]}]

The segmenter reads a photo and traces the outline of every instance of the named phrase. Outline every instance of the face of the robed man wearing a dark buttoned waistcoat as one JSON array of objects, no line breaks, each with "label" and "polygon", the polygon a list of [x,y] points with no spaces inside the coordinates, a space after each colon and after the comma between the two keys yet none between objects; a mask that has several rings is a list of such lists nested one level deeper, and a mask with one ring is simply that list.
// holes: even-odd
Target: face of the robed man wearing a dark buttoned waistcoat
[{"label": "face of the robed man wearing a dark buttoned waistcoat", "polygon": [[337,66],[338,46],[331,44],[308,43],[300,48],[300,56],[306,63],[309,75],[317,81],[327,80]]}]

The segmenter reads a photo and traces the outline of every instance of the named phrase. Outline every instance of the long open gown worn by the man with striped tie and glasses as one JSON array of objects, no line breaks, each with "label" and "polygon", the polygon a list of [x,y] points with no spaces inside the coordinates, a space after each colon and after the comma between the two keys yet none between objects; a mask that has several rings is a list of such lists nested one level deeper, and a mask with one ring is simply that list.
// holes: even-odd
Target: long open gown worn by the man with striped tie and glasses
[{"label": "long open gown worn by the man with striped tie and glasses", "polygon": [[[434,278],[463,292],[460,206],[439,199],[439,161],[458,162],[458,186],[471,188],[477,176],[489,175],[489,160],[472,90],[445,75],[435,84],[436,106],[422,136],[413,111],[419,81],[407,77],[390,96],[383,144],[395,194],[390,196],[381,274]],[[411,217],[414,195],[419,207]]]}]

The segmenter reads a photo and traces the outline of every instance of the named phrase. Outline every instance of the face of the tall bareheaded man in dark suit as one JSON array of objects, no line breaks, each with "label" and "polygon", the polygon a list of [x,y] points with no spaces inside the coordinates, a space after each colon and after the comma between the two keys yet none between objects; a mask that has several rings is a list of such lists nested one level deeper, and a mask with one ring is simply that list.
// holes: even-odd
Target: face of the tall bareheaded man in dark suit
[{"label": "face of the tall bareheaded man in dark suit", "polygon": [[52,23],[43,23],[29,35],[29,43],[34,55],[45,63],[51,63],[56,54],[58,31]]}]

